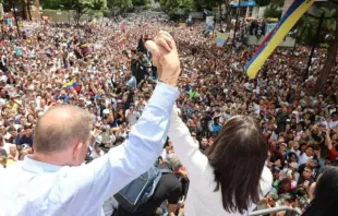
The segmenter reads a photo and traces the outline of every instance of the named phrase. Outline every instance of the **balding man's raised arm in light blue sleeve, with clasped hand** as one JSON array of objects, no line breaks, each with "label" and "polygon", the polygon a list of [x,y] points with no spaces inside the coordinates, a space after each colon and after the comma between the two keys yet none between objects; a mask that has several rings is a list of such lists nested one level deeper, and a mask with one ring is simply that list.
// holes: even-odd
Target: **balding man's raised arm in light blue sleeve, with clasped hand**
[{"label": "balding man's raised arm in light blue sleeve, with clasped hand", "polygon": [[106,199],[147,171],[161,154],[172,106],[179,96],[176,86],[180,64],[174,41],[167,33],[159,33],[146,47],[152,51],[153,63],[159,69],[160,82],[129,139],[89,165],[70,168],[68,178],[63,178],[63,182],[61,179],[61,187],[71,183],[77,190],[70,197],[70,205],[82,206],[77,208],[79,215],[97,209]]}]

